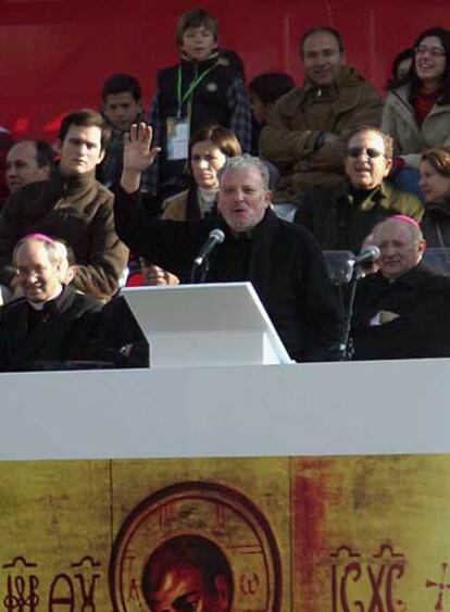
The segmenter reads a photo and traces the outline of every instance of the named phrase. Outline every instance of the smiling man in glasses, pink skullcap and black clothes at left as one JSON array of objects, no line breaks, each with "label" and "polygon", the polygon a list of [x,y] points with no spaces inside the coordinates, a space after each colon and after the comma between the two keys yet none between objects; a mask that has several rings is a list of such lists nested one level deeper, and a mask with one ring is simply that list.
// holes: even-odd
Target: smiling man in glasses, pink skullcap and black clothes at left
[{"label": "smiling man in glasses, pink skullcap and black clothes at left", "polygon": [[24,297],[0,309],[0,371],[46,370],[86,357],[101,303],[61,283],[61,245],[41,234],[22,238],[13,252]]}]

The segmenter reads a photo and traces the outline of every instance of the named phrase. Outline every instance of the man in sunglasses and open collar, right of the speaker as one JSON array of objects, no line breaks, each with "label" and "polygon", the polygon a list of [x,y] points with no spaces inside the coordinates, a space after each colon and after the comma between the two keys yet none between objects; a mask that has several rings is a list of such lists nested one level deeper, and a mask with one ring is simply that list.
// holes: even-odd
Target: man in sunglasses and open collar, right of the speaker
[{"label": "man in sunglasses and open collar, right of the speaker", "polygon": [[343,166],[347,178],[337,187],[310,187],[295,221],[307,227],[326,250],[359,251],[376,223],[396,213],[423,214],[418,198],[385,180],[392,164],[392,139],[375,127],[350,133]]}]

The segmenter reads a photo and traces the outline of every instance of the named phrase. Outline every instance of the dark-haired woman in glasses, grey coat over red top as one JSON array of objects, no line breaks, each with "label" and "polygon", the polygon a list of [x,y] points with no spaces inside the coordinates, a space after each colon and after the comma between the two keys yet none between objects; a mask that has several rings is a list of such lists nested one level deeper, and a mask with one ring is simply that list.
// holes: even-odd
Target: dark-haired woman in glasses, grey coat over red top
[{"label": "dark-haired woman in glasses, grey coat over red top", "polygon": [[421,153],[450,146],[450,32],[434,27],[414,42],[405,83],[386,99],[382,129],[393,138],[395,183],[418,193]]}]

